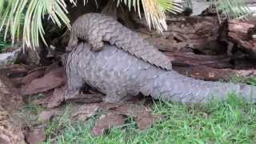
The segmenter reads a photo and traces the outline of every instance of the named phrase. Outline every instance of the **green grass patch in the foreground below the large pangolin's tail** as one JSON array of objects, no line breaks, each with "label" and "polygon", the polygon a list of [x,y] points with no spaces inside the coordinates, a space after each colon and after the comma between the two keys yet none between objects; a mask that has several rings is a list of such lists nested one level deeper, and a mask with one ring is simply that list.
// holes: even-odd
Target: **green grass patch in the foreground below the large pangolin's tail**
[{"label": "green grass patch in the foreground below the large pangolin's tail", "polygon": [[[156,102],[154,114],[165,117],[148,130],[138,130],[129,118],[125,126],[94,138],[90,130],[96,118],[72,122],[62,114],[50,122],[46,143],[254,143],[256,142],[256,106],[235,95],[225,102],[206,105],[183,105]],[[66,110],[69,110],[66,109]],[[54,137],[53,137],[54,136]]]}]

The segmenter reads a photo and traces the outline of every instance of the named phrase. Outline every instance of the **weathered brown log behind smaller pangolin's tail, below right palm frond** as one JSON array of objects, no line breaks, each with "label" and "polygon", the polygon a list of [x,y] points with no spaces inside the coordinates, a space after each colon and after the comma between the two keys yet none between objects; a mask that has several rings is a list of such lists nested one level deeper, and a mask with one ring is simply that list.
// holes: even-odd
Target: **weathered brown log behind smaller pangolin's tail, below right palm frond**
[{"label": "weathered brown log behind smaller pangolin's tail, below right palm frond", "polygon": [[221,25],[215,17],[179,17],[167,18],[168,30],[163,34],[149,33],[139,29],[143,38],[163,51],[180,51],[184,48],[198,50],[202,54],[225,52],[218,42]]}]

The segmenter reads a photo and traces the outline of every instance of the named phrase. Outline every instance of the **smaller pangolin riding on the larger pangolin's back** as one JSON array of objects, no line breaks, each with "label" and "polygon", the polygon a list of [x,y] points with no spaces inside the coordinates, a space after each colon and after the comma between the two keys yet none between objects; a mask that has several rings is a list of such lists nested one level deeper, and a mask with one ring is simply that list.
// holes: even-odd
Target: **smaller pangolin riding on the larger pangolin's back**
[{"label": "smaller pangolin riding on the larger pangolin's back", "polygon": [[103,42],[110,42],[143,61],[165,70],[171,70],[170,58],[162,54],[139,34],[129,30],[114,18],[105,14],[90,13],[79,17],[73,24],[67,51],[78,45],[78,39],[86,40],[91,50],[102,50]]}]

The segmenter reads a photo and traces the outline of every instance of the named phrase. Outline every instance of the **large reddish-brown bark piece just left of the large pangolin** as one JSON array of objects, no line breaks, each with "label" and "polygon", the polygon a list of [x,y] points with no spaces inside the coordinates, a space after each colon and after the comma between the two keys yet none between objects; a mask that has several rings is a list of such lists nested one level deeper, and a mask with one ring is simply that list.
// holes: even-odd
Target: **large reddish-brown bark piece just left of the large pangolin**
[{"label": "large reddish-brown bark piece just left of the large pangolin", "polygon": [[38,94],[62,86],[65,82],[63,78],[64,75],[62,67],[52,70],[42,78],[34,79],[30,84],[26,85],[22,94]]}]

